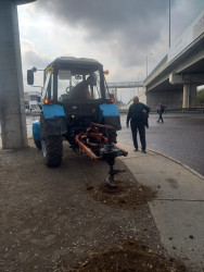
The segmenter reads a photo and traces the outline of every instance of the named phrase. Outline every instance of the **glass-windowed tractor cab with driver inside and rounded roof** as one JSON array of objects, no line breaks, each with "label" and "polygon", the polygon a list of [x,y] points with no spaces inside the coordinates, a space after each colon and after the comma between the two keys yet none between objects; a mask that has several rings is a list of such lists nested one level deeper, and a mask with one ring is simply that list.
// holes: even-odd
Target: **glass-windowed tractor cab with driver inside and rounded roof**
[{"label": "glass-windowed tractor cab with driver inside and rounded roof", "polygon": [[103,66],[92,59],[58,58],[44,70],[44,98],[68,103],[110,98]]}]

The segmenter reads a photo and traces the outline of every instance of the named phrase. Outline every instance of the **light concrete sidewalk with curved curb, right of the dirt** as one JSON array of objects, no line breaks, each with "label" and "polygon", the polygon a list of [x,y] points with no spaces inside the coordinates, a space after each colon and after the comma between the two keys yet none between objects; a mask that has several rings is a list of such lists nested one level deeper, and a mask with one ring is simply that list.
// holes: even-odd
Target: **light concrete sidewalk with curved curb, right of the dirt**
[{"label": "light concrete sidewalk with curved curb, right of the dirt", "polygon": [[118,145],[128,151],[120,159],[137,181],[157,191],[149,206],[163,246],[190,271],[204,271],[204,176],[155,151]]}]

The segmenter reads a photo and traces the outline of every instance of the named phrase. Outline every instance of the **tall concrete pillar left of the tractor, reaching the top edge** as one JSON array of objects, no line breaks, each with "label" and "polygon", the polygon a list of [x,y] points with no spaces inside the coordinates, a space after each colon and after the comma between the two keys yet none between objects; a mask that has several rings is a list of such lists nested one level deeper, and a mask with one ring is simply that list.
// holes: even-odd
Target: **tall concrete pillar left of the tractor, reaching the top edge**
[{"label": "tall concrete pillar left of the tractor, reaching the top edge", "polygon": [[0,121],[2,148],[18,149],[27,146],[27,131],[17,7],[15,1],[0,1]]}]

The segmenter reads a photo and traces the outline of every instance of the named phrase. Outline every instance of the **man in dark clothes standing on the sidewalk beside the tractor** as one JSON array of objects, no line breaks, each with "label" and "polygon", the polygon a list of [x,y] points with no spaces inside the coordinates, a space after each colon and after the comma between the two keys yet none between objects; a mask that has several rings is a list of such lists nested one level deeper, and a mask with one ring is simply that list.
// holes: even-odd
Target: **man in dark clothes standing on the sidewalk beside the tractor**
[{"label": "man in dark clothes standing on the sidewalk beside the tractor", "polygon": [[127,125],[127,128],[129,128],[129,121],[130,121],[135,151],[138,151],[137,133],[139,131],[142,152],[146,153],[144,111],[149,113],[150,108],[139,102],[139,98],[137,96],[133,97],[132,100],[133,100],[133,103],[129,107],[126,125]]}]

